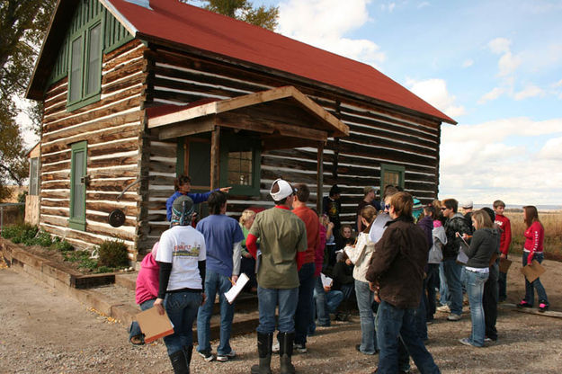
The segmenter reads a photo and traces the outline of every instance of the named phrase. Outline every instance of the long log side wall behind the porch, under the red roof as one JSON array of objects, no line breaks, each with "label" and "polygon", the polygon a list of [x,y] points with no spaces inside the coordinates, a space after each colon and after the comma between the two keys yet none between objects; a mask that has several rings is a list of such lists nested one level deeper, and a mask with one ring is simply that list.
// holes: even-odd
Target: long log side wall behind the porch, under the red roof
[{"label": "long log side wall behind the porch, under the red roof", "polygon": [[[220,64],[170,49],[145,51],[147,94],[145,105],[185,104],[203,98],[227,99],[295,85],[350,127],[348,138],[327,141],[324,150],[324,191],[337,183],[343,190],[342,220],[355,221],[357,203],[365,186],[380,185],[380,165],[406,168],[406,191],[424,202],[437,195],[439,180],[440,122],[394,111],[375,103],[361,102],[317,85],[265,75],[245,67]],[[145,158],[150,182],[141,191],[147,196],[139,231],[138,249],[146,252],[167,228],[165,200],[174,192],[176,142],[162,142],[147,135]],[[261,160],[261,193],[257,197],[228,197],[228,214],[237,216],[248,206],[272,206],[269,188],[282,175],[292,183],[308,183],[316,204],[317,149],[300,147],[264,152]],[[154,179],[156,178],[156,179]]]}]

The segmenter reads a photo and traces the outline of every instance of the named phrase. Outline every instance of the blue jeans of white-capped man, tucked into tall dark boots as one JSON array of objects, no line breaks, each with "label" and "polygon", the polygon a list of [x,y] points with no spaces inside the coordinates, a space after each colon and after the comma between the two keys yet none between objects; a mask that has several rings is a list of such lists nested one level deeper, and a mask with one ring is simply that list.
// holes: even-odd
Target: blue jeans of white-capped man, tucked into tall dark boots
[{"label": "blue jeans of white-capped man, tucked into tall dark boots", "polygon": [[275,308],[277,306],[279,306],[279,332],[294,332],[298,298],[298,287],[294,289],[264,289],[258,285],[257,299],[260,310],[260,324],[257,326],[257,332],[260,334],[273,334],[275,332]]}]

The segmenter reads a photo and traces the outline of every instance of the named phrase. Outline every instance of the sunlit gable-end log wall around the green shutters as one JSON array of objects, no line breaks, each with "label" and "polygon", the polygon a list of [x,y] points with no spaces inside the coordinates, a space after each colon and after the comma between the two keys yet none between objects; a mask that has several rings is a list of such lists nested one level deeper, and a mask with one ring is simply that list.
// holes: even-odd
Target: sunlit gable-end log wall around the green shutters
[{"label": "sunlit gable-end log wall around the green shutters", "polygon": [[[140,110],[146,75],[145,47],[130,41],[103,56],[100,101],[67,111],[67,78],[46,92],[41,138],[40,227],[78,247],[121,239],[136,259],[139,186],[116,198],[139,177],[144,112]],[[87,141],[85,231],[68,227],[70,207],[70,147]],[[123,209],[125,224],[112,227],[112,209]]]}]

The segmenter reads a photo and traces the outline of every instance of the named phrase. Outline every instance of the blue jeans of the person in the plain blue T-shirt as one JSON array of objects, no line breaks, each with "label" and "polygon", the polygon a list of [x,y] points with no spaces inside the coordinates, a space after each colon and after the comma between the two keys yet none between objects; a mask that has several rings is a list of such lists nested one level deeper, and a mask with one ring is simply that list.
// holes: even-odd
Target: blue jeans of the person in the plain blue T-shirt
[{"label": "blue jeans of the person in the plain blue T-shirt", "polygon": [[205,294],[207,301],[199,308],[197,316],[197,352],[210,352],[210,317],[213,314],[215,298],[219,294],[220,302],[220,343],[217,348],[218,354],[232,352],[230,348],[230,331],[232,330],[232,318],[234,316],[234,304],[228,304],[225,292],[232,287],[228,277],[213,272],[209,269],[205,272]]}]

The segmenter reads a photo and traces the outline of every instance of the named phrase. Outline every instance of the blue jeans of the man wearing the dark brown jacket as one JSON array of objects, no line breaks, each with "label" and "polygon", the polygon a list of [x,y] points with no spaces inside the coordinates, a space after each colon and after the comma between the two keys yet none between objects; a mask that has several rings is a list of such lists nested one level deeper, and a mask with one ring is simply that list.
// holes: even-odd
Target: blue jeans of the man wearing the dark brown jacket
[{"label": "blue jeans of the man wearing the dark brown jacket", "polygon": [[422,374],[439,373],[430,352],[415,328],[415,308],[400,309],[382,300],[377,313],[377,342],[379,343],[379,374],[398,371],[398,338],[414,359]]}]

